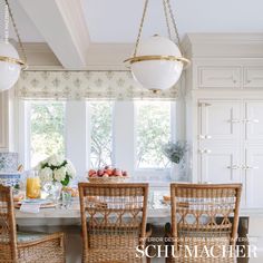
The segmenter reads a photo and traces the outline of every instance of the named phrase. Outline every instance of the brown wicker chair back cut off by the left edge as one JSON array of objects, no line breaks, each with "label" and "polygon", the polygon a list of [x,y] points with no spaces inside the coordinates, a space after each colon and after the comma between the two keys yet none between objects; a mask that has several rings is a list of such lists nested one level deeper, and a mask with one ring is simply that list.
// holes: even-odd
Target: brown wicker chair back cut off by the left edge
[{"label": "brown wicker chair back cut off by the left edge", "polygon": [[0,259],[14,262],[17,259],[17,230],[11,187],[0,185]]}]

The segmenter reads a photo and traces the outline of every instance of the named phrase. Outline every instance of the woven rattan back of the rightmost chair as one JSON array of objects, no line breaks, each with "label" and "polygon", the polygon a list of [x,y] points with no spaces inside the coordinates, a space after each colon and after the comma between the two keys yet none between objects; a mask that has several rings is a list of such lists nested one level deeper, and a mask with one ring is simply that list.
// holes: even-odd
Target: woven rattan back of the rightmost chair
[{"label": "woven rattan back of the rightmost chair", "polygon": [[204,245],[234,245],[241,191],[241,184],[171,184],[176,245],[196,245],[201,250]]}]

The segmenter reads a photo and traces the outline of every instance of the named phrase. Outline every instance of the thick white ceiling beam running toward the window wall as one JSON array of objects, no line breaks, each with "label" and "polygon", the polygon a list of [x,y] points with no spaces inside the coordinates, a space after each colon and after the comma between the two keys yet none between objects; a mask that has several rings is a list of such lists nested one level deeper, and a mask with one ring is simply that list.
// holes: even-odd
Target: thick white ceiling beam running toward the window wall
[{"label": "thick white ceiling beam running toward the window wall", "polygon": [[80,1],[19,0],[66,69],[87,67],[90,42]]}]

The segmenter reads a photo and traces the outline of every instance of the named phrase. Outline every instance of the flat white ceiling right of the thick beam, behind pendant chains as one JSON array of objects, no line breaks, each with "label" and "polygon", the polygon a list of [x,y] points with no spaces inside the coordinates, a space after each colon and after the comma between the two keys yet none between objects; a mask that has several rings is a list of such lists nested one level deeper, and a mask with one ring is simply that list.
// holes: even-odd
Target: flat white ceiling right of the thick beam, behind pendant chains
[{"label": "flat white ceiling right of the thick beam, behind pendant chains", "polygon": [[[145,0],[82,0],[94,42],[133,42]],[[171,0],[181,35],[262,32],[262,0]],[[149,0],[144,36],[166,33],[162,0]]]}]

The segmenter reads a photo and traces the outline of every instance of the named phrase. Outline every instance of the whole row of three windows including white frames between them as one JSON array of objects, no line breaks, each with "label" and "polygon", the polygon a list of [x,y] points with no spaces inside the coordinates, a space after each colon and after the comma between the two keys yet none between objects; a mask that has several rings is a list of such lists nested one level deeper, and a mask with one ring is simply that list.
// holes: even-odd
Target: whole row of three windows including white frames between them
[{"label": "whole row of three windows including white frames between them", "polygon": [[18,134],[26,168],[58,154],[71,159],[79,176],[106,165],[138,177],[168,173],[162,147],[174,139],[175,103],[41,100],[21,107]]}]

